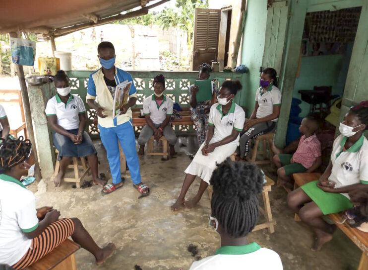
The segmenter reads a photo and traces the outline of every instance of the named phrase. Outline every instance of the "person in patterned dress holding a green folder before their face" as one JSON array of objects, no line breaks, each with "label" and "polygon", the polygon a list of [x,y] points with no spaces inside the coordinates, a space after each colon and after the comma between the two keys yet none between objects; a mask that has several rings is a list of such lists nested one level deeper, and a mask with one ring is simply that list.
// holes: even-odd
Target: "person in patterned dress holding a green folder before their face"
[{"label": "person in patterned dress holding a green folder before their face", "polygon": [[[210,78],[211,71],[212,70],[211,70],[210,65],[203,63],[200,66],[198,79],[208,80]],[[195,85],[190,86],[190,90],[189,90],[190,115],[195,125],[199,145],[204,143],[204,140],[206,138],[206,133],[208,129],[208,115],[210,112],[211,105],[216,102],[216,96],[218,95],[218,89],[216,88],[215,84],[213,84],[212,85],[212,100],[205,100],[205,101],[197,102],[197,93],[200,90],[202,89],[199,89]]]}]

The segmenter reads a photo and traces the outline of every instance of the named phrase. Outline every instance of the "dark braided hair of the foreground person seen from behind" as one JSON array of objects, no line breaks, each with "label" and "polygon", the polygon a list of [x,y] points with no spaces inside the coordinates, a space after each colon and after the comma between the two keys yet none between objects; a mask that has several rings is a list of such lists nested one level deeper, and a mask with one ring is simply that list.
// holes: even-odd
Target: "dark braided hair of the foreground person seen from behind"
[{"label": "dark braided hair of the foreground person seen from behind", "polygon": [[218,165],[210,182],[213,185],[211,215],[217,218],[227,235],[246,236],[259,216],[257,195],[263,185],[261,170],[253,164],[228,158]]}]

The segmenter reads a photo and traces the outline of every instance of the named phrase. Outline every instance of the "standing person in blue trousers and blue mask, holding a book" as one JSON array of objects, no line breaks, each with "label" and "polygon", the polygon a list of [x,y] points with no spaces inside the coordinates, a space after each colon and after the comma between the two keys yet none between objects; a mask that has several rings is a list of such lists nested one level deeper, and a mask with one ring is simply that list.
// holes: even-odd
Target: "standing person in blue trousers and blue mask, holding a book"
[{"label": "standing person in blue trousers and blue mask, holding a book", "polygon": [[[149,187],[142,183],[140,178],[139,160],[135,150],[134,129],[131,121],[130,107],[137,101],[133,83],[127,104],[122,105],[120,114],[113,118],[116,86],[126,80],[133,82],[133,79],[129,73],[115,67],[115,48],[111,42],[101,42],[97,51],[102,67],[89,76],[86,98],[87,104],[96,110],[101,141],[107,152],[113,178],[112,183],[104,186],[102,194],[109,194],[123,186],[120,170],[120,141],[135,188],[142,195],[148,195]],[[98,101],[95,100],[96,98]]]}]

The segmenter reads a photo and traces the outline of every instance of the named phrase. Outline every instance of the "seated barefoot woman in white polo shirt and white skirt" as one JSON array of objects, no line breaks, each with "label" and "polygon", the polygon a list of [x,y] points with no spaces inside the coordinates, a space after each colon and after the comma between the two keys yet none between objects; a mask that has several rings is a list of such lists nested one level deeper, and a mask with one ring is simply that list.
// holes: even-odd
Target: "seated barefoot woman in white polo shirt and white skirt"
[{"label": "seated barefoot woman in white polo shirt and white skirt", "polygon": [[[198,203],[206,190],[216,164],[223,162],[233,154],[239,146],[239,133],[243,130],[245,112],[235,104],[234,97],[242,85],[239,81],[225,81],[219,91],[218,103],[211,106],[206,140],[199,147],[194,159],[185,170],[185,179],[173,210],[193,207]],[[185,194],[196,177],[201,179],[198,193],[189,201]]]}]

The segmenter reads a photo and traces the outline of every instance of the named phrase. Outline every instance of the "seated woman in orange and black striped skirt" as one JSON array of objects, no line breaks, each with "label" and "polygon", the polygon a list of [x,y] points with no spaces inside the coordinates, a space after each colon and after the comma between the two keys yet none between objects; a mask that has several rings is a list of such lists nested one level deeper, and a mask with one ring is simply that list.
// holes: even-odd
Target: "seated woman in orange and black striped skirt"
[{"label": "seated woman in orange and black striped skirt", "polygon": [[20,178],[34,167],[31,142],[8,138],[0,144],[0,264],[24,269],[39,261],[68,237],[104,263],[116,249],[113,243],[97,246],[77,218],[59,219],[53,207],[36,209],[36,198]]}]

